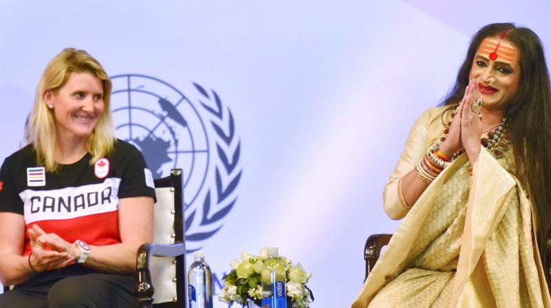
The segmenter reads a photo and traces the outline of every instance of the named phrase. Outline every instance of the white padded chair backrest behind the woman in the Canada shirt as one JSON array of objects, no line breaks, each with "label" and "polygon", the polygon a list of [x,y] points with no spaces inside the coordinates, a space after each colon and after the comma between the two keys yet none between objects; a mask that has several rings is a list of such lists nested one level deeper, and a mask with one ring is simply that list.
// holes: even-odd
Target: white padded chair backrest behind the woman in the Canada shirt
[{"label": "white padded chair backrest behind the woman in the Canada shirt", "polygon": [[173,169],[171,174],[155,179],[155,226],[153,243],[182,245],[183,255],[153,255],[149,267],[153,287],[154,305],[178,303],[185,305],[185,241],[183,223],[182,170]]}]

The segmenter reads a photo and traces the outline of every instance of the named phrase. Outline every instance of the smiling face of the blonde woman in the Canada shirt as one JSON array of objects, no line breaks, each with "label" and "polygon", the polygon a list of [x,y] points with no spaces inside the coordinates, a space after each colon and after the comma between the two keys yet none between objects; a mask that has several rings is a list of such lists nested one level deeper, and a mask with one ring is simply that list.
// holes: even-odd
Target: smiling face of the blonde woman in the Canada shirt
[{"label": "smiling face of the blonde woman in the Canada shirt", "polygon": [[69,142],[85,142],[105,107],[101,80],[88,72],[71,73],[59,90],[45,91],[44,100],[53,106],[58,138]]}]

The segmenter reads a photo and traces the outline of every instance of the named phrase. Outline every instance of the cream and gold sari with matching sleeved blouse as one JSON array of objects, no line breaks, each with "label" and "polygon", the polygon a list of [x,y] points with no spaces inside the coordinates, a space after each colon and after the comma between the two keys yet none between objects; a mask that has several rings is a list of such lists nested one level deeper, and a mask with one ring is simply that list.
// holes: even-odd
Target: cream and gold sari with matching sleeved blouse
[{"label": "cream and gold sari with matching sleeved blouse", "polygon": [[[404,216],[352,308],[551,307],[534,230],[534,212],[510,174],[510,151],[484,147],[468,175],[465,154],[408,208],[400,179],[439,140],[449,114],[426,111],[385,188],[385,210]],[[441,116],[444,116],[441,118]]]}]

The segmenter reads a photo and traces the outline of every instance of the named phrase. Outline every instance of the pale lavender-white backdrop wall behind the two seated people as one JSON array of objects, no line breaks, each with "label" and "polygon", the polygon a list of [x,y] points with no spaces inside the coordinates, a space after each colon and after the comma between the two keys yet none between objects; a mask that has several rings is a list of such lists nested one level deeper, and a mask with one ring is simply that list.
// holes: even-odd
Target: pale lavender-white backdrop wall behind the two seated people
[{"label": "pale lavender-white backdrop wall behind the two seated people", "polygon": [[[186,188],[186,214],[196,211],[188,234],[220,229],[188,247],[205,250],[218,279],[242,250],[279,247],[313,272],[312,307],[348,307],[362,285],[366,236],[397,226],[382,211],[382,190],[410,125],[453,84],[470,36],[486,23],[514,21],[532,28],[549,48],[551,3],[516,3],[4,0],[0,161],[21,145],[41,72],[64,47],[87,50],[110,76],[154,77],[116,87],[151,90],[174,104],[176,94],[160,81],[168,83],[189,99],[187,109],[178,107],[189,131],[167,126],[157,137],[164,134],[173,146],[174,140],[186,146],[186,133],[208,138],[202,146],[209,146],[209,161],[206,150],[196,153]],[[220,96],[222,119],[200,104],[216,107],[211,90]],[[122,94],[114,97],[121,108],[127,103]],[[152,116],[167,112],[155,108]],[[223,144],[211,122],[228,134],[228,109],[235,132]],[[146,118],[141,121],[147,126]],[[128,137],[123,126],[118,133]],[[236,168],[227,173],[216,144],[231,157],[239,142]],[[185,173],[188,154],[176,164]],[[158,169],[163,175],[176,154],[167,156]],[[219,204],[216,168],[224,171],[223,188],[242,171]],[[193,202],[191,195],[197,196]],[[229,212],[213,216],[235,199]]]}]

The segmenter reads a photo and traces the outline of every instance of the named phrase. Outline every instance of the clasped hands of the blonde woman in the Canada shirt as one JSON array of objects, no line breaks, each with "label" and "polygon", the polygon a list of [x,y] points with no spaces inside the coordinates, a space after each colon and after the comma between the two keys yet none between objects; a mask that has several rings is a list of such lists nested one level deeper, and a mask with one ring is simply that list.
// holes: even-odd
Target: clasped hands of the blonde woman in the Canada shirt
[{"label": "clasped hands of the blonde woman in the Canada shirt", "polygon": [[67,267],[80,253],[76,252],[78,248],[75,245],[61,239],[57,234],[44,232],[38,225],[33,225],[28,232],[32,248],[29,263],[35,272]]}]

